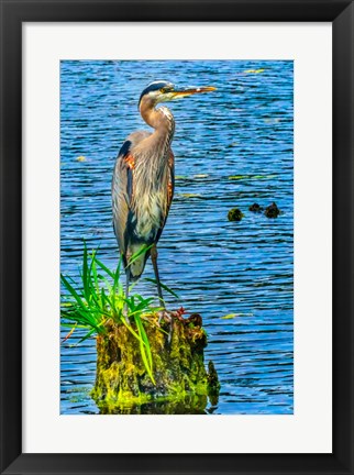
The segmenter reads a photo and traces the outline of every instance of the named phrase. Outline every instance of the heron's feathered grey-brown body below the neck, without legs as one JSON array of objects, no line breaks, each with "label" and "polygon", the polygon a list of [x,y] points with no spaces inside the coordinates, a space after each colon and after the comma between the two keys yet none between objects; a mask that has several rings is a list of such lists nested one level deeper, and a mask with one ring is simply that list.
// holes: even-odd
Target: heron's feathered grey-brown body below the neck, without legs
[{"label": "heron's feathered grey-brown body below the neck, without legs", "polygon": [[[143,245],[157,243],[166,223],[175,185],[174,154],[158,168],[154,156],[141,146],[148,132],[135,132],[121,147],[112,180],[113,228],[123,263]],[[156,178],[154,178],[154,176]],[[144,270],[150,251],[134,259],[126,273],[130,280]]]}]

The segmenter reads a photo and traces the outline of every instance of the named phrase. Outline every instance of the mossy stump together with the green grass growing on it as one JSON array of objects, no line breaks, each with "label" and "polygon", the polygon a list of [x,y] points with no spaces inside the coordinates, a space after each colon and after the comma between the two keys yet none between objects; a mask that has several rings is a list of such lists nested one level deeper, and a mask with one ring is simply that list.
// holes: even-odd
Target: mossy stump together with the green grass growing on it
[{"label": "mossy stump together with the green grass growing on it", "polygon": [[[135,253],[129,265],[147,248]],[[97,257],[97,251],[89,253],[85,244],[80,283],[60,276],[66,289],[62,297],[63,325],[69,328],[64,341],[76,329],[86,330],[79,343],[97,339],[93,399],[104,412],[158,400],[173,401],[174,412],[185,399],[198,402],[201,409],[207,396],[214,397],[219,390],[213,364],[209,364],[209,374],[204,368],[207,333],[201,317],[193,313],[185,319],[182,308],[166,311],[162,305],[154,306],[154,297],[136,292],[126,297],[119,279],[121,266],[122,261],[114,272],[110,270]],[[166,285],[162,287],[178,298]],[[190,399],[191,394],[202,397],[202,401]]]}]

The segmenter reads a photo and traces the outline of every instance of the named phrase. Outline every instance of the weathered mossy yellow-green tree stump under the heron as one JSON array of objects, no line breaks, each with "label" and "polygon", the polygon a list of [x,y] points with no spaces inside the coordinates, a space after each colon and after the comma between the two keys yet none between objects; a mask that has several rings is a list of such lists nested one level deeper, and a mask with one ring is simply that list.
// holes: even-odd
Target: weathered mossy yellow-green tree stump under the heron
[{"label": "weathered mossy yellow-green tree stump under the heron", "polygon": [[123,324],[111,323],[97,336],[97,375],[92,398],[102,413],[202,413],[208,396],[219,394],[217,371],[204,367],[207,333],[197,313],[170,322],[151,316],[144,324],[153,357],[155,384],[142,361],[139,341]]}]

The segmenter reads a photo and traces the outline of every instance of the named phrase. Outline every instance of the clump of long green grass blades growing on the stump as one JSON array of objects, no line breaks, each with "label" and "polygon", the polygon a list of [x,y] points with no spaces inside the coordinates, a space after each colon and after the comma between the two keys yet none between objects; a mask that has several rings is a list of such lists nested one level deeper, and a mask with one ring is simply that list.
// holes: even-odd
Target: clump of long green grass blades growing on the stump
[{"label": "clump of long green grass blades growing on the stump", "polygon": [[[148,247],[143,247],[135,253],[129,265],[147,250]],[[122,259],[119,261],[114,272],[110,270],[98,259],[97,251],[89,253],[86,243],[84,243],[80,284],[78,285],[71,277],[60,274],[63,286],[67,290],[67,294],[62,297],[60,314],[64,320],[63,325],[70,328],[65,340],[71,335],[75,329],[87,330],[87,333],[79,340],[81,343],[93,334],[106,334],[109,321],[123,324],[139,341],[145,369],[155,384],[152,352],[143,320],[145,320],[144,316],[157,312],[162,310],[162,307],[152,305],[153,297],[143,298],[141,295],[134,294],[126,298],[124,288],[119,280]],[[150,281],[154,280],[150,279]],[[167,286],[163,285],[163,288],[177,297]]]}]

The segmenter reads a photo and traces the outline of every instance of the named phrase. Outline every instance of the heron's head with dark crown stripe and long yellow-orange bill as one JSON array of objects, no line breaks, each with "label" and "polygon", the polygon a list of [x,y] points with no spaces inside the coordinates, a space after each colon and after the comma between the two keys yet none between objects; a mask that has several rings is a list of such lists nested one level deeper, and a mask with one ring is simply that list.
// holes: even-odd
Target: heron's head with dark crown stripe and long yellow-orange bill
[{"label": "heron's head with dark crown stripe and long yellow-orange bill", "polygon": [[139,106],[141,104],[142,100],[148,100],[155,106],[159,102],[169,102],[176,99],[181,99],[188,96],[192,96],[195,93],[209,92],[217,88],[211,86],[179,89],[176,88],[172,82],[158,80],[158,81],[151,82],[143,90],[139,100]]}]

